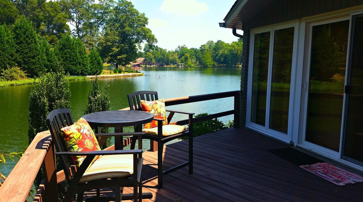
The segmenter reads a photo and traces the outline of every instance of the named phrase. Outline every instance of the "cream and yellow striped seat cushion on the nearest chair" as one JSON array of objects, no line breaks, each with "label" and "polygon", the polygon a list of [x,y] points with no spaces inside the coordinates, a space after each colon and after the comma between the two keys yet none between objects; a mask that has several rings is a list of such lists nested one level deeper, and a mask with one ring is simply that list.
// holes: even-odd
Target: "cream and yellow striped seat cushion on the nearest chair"
[{"label": "cream and yellow striped seat cushion on the nearest chair", "polygon": [[104,155],[94,161],[79,183],[112,177],[126,177],[134,173],[132,154]]}]

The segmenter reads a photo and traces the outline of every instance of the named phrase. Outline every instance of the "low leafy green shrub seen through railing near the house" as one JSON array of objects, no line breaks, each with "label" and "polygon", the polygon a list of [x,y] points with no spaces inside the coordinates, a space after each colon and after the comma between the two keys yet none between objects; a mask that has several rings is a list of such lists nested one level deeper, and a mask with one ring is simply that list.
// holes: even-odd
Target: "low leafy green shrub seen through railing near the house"
[{"label": "low leafy green shrub seen through railing near the house", "polygon": [[[204,117],[209,115],[208,113],[197,114],[194,117]],[[227,127],[223,124],[223,122],[219,121],[219,119],[209,119],[207,121],[201,121],[193,123],[193,137],[204,135],[211,132],[216,132],[219,130],[226,129]],[[189,129],[189,127],[188,127]],[[182,140],[188,139],[188,137],[179,138]]]}]

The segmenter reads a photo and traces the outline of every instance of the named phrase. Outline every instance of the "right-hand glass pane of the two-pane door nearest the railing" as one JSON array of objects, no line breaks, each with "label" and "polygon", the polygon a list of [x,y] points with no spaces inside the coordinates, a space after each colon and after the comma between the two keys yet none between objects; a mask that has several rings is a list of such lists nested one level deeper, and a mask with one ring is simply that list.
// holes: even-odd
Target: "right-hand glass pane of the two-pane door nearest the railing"
[{"label": "right-hand glass pane of the two-pane door nearest the railing", "polygon": [[269,128],[287,134],[294,28],[274,31]]}]

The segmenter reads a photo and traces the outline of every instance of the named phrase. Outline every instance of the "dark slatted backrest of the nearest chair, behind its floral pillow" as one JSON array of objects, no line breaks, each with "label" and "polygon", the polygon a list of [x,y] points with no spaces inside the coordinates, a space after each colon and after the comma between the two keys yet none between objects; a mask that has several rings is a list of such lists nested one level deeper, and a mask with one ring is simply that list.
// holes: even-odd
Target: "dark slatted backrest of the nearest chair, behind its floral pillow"
[{"label": "dark slatted backrest of the nearest chair, behind its floral pillow", "polygon": [[[52,140],[54,145],[56,146],[57,151],[64,152],[68,151],[65,142],[63,140],[63,136],[61,133],[61,129],[66,126],[73,125],[72,115],[70,114],[69,109],[56,109],[49,112],[46,122],[49,127],[50,134],[52,135]],[[70,173],[70,166],[73,165],[73,161],[69,156],[62,156],[63,161],[63,170],[66,176],[68,183],[72,179],[72,174]]]}]

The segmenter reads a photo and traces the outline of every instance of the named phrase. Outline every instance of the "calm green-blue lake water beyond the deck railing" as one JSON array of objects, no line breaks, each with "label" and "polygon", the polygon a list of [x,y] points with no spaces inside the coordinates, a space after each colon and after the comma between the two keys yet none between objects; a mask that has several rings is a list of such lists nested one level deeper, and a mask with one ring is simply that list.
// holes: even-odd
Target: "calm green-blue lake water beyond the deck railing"
[{"label": "calm green-blue lake water beyond the deck railing", "polygon": [[[129,106],[126,94],[141,91],[158,91],[159,98],[193,96],[207,93],[234,91],[240,89],[240,68],[176,68],[176,67],[141,67],[144,76],[99,79],[110,85],[110,107],[118,110]],[[0,151],[21,151],[28,147],[28,98],[33,85],[0,88]],[[84,115],[87,106],[87,93],[90,80],[69,82],[71,112],[76,121]],[[170,106],[198,113],[217,113],[233,109],[233,98],[223,98]],[[173,120],[186,119],[176,115]],[[227,122],[232,116],[222,117]],[[125,131],[131,130],[125,129]],[[146,140],[147,141],[147,140]],[[148,149],[147,142],[143,144]],[[8,176],[16,162],[8,160],[0,164],[0,172]]]}]

